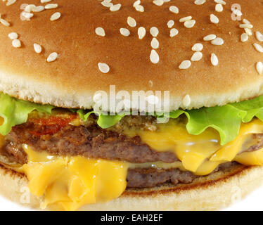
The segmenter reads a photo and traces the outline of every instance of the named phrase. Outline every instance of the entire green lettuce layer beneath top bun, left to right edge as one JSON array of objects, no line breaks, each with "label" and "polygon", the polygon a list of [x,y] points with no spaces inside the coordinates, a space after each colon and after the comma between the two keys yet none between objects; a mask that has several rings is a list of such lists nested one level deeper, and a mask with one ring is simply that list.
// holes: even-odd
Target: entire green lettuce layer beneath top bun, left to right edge
[{"label": "entire green lettuce layer beneath top bun, left to right edge", "polygon": [[[51,113],[52,105],[40,105],[22,101],[17,98],[0,93],[0,117],[4,118],[4,123],[0,126],[0,134],[8,134],[12,127],[23,124],[27,121],[28,114],[33,110],[39,113]],[[122,120],[123,115],[102,115],[94,111],[74,110],[79,117],[86,121],[92,113],[98,115],[98,126],[103,129],[114,126]],[[240,124],[250,122],[253,117],[263,121],[263,96],[240,103],[232,103],[224,106],[210,108],[200,108],[197,110],[176,110],[165,115],[156,115],[158,120],[164,122],[167,117],[176,119],[182,114],[186,115],[188,122],[186,129],[189,134],[201,134],[208,127],[212,127],[219,132],[221,144],[225,145],[238,136]],[[127,115],[127,114],[126,114]]]}]

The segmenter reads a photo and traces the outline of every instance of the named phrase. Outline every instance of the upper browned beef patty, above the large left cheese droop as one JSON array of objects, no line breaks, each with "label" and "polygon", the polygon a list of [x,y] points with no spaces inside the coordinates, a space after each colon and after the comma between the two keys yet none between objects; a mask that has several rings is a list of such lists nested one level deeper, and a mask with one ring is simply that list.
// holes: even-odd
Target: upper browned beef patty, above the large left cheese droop
[{"label": "upper browned beef patty, above the large left cheese droop", "polygon": [[6,137],[6,151],[16,162],[26,163],[22,148],[27,143],[34,150],[45,150],[52,155],[83,155],[86,158],[124,160],[134,163],[177,161],[174,153],[160,153],[141,142],[139,136],[129,139],[115,131],[101,129],[97,125],[89,127],[63,127],[56,134],[34,135],[35,124],[27,122],[13,128]]}]

